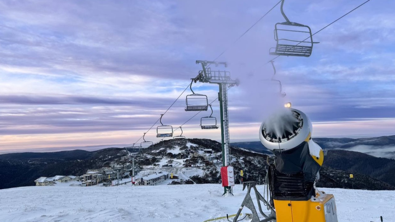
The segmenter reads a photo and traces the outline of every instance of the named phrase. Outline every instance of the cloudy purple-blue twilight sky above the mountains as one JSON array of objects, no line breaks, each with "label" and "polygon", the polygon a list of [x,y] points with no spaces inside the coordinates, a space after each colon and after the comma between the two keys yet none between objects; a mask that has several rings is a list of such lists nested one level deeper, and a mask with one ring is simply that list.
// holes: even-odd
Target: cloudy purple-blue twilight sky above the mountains
[{"label": "cloudy purple-blue twilight sky above the mountains", "polygon": [[[220,139],[186,112],[196,60],[228,62],[240,85],[228,90],[231,141],[257,141],[261,122],[285,102],[305,112],[313,137],[395,134],[395,2],[371,0],[314,35],[310,57],[269,49],[277,0],[0,1],[0,152],[131,146],[174,135]],[[317,32],[364,1],[286,1],[292,22]],[[218,85],[194,83],[218,96]],[[180,96],[181,95],[181,96]],[[180,97],[179,97],[180,96]],[[175,100],[179,99],[175,102]],[[173,103],[173,106],[169,106]],[[167,110],[168,109],[168,110]],[[219,119],[219,103],[213,103]],[[186,123],[185,123],[186,122]],[[165,138],[167,139],[167,138]]]}]

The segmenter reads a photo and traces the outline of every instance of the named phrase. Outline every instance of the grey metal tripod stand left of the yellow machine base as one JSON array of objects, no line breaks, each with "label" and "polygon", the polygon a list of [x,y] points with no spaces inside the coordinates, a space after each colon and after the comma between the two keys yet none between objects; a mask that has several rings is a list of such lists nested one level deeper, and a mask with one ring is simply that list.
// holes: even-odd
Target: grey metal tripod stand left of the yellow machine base
[{"label": "grey metal tripod stand left of the yellow machine base", "polygon": [[[261,209],[260,201],[263,201],[265,204],[267,204],[267,201],[262,197],[262,195],[256,189],[256,187],[255,187],[256,182],[255,181],[243,182],[243,190],[245,189],[246,186],[248,188],[246,196],[245,196],[243,202],[241,203],[241,207],[237,211],[236,216],[233,218],[233,222],[237,221],[241,211],[243,210],[243,207],[247,207],[248,209],[251,210],[251,212],[252,212],[251,222],[269,222],[271,220],[275,221],[276,220],[276,212],[273,209],[271,209],[271,213],[269,214],[269,216],[267,216],[265,213],[263,213],[263,211]],[[265,217],[265,219],[263,219],[263,220],[259,220],[258,212],[256,212],[254,202],[252,201],[252,198],[251,198],[251,194],[250,194],[251,188],[254,188],[256,200],[258,201],[259,211]]]}]

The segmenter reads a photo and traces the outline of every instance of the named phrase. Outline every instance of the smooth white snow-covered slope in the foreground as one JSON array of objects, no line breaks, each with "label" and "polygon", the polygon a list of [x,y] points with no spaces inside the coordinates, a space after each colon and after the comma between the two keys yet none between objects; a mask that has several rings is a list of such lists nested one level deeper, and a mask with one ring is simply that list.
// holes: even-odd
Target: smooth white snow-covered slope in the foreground
[{"label": "smooth white snow-covered slope in the foreground", "polygon": [[[223,197],[220,184],[10,188],[0,190],[0,221],[202,222],[236,213],[241,189],[236,185],[234,196]],[[335,195],[339,222],[395,218],[395,191],[320,190]]]}]

